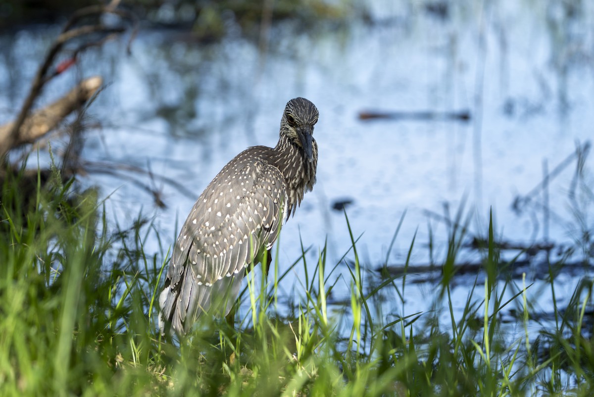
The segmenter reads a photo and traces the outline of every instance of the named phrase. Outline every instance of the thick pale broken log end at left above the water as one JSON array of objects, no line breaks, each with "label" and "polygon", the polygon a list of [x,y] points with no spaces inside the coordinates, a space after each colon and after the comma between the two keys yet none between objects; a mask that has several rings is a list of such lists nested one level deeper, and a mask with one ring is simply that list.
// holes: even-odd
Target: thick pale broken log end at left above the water
[{"label": "thick pale broken log end at left above the water", "polygon": [[0,147],[8,146],[14,149],[26,143],[33,143],[45,136],[58,127],[66,116],[80,109],[87,100],[91,99],[102,84],[103,79],[99,76],[81,81],[78,86],[60,99],[25,118],[14,139],[11,139],[14,121],[0,126]]}]

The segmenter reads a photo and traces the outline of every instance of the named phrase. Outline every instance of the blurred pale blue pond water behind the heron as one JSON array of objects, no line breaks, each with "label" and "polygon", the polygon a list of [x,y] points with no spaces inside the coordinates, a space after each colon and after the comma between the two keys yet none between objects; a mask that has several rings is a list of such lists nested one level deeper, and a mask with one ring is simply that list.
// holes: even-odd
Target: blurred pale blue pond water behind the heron
[{"label": "blurred pale blue pond water behind the heron", "polygon": [[[557,4],[457,2],[442,18],[421,2],[378,0],[370,5],[371,23],[275,24],[264,52],[262,42],[236,30],[208,46],[186,33],[146,30],[131,56],[125,55],[125,42],[85,54],[80,67],[56,78],[43,99],[59,97],[83,75],[105,78],[108,86],[89,111],[82,154],[95,172],[79,180],[102,188],[108,213],[120,225],[142,210],[167,244],[219,169],[247,146],[274,146],[285,103],[304,96],[320,110],[314,134],[318,182],[283,228],[281,266],[299,257],[299,241],[312,247],[311,266],[326,239],[330,262],[342,257],[349,232],[343,213],[331,207],[344,199],[353,201],[346,211],[355,236],[362,234],[359,253],[371,269],[384,261],[402,264],[415,233],[411,262],[428,263],[429,229],[435,259],[442,259],[447,226],[437,215],[447,214],[444,203],[453,218],[465,202],[475,234],[486,235],[492,209],[495,232],[505,240],[567,246],[580,238],[578,218],[592,229],[591,198],[581,188],[576,200],[569,194],[575,160],[550,181],[548,198],[537,190],[521,211],[512,204],[542,181],[545,167],[551,172],[592,137],[594,5],[585,3],[571,14]],[[14,116],[57,32],[53,26],[25,27],[0,37],[0,121]],[[465,109],[472,115],[467,123],[358,119],[369,110]],[[43,153],[41,158],[42,164],[48,159]],[[159,178],[123,172],[162,189],[167,207],[156,208],[153,197],[129,179],[97,172],[118,164],[166,175],[189,193]],[[592,165],[589,156],[583,188],[592,188]],[[156,240],[145,248],[156,251]],[[461,259],[477,255],[467,251]],[[337,301],[349,294],[345,269],[339,268],[344,278]],[[529,281],[539,276],[528,269]],[[302,270],[294,277],[302,279]],[[570,294],[577,278],[559,282]],[[467,288],[468,281],[460,282],[454,297],[465,301]],[[396,292],[388,298],[397,302],[396,313],[407,315],[428,310],[425,297],[433,289],[432,283],[407,286],[406,305]],[[534,289],[546,308],[548,292]]]}]

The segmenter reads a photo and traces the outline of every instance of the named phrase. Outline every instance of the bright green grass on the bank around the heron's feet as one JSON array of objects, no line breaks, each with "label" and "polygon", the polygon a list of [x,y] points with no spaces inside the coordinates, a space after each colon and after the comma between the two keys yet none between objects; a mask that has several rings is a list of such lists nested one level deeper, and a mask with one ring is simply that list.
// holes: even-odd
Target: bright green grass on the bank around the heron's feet
[{"label": "bright green grass on the bank around the heron's feet", "polygon": [[[447,256],[437,263],[443,275],[428,297],[432,311],[405,316],[409,279],[377,281],[351,232],[348,261],[330,263],[322,248],[317,263],[308,263],[304,249],[290,266],[279,266],[275,257],[267,280],[256,282],[261,272],[251,272],[238,329],[203,317],[191,335],[171,342],[157,332],[156,306],[170,242],[147,255],[144,242],[158,231],[141,216],[110,232],[93,191],[74,194],[71,185],[55,182],[50,189],[37,187],[35,197],[21,197],[18,183],[18,177],[5,181],[0,207],[2,396],[594,392],[592,280],[579,283],[567,307],[555,301],[549,329],[531,334],[530,286],[505,281],[492,221],[485,231],[485,280],[475,279],[462,315],[454,313],[460,308],[450,285],[466,234],[462,210],[451,226]],[[350,231],[347,218],[345,227]],[[424,249],[410,240],[410,252]],[[350,278],[339,278],[337,267],[345,264]],[[553,265],[550,280],[562,263]],[[292,279],[297,266],[304,267],[305,279]],[[339,282],[350,286],[342,308],[329,303]],[[301,298],[277,310],[279,289]],[[473,298],[474,291],[482,299]],[[504,298],[510,291],[511,299]],[[385,295],[404,302],[400,316],[386,313]],[[511,342],[500,316],[510,305],[520,313],[516,329],[525,330]],[[447,323],[439,320],[444,311]]]}]

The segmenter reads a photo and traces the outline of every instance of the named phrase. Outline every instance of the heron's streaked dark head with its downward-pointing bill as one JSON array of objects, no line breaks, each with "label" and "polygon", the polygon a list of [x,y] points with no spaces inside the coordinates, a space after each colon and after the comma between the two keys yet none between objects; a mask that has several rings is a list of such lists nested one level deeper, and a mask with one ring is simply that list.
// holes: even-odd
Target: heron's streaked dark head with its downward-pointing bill
[{"label": "heron's streaked dark head with its downward-pointing bill", "polygon": [[304,150],[305,156],[313,161],[312,141],[314,124],[318,122],[318,109],[305,98],[295,98],[287,102],[283,118],[280,119],[280,133]]}]

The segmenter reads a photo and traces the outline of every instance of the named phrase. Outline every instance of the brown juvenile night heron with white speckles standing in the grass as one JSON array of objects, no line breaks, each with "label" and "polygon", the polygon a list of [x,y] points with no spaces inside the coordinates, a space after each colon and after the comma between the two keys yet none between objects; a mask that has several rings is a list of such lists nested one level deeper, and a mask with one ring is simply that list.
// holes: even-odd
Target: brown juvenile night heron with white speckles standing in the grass
[{"label": "brown juvenile night heron with white speckles standing in the grass", "polygon": [[[163,333],[187,333],[204,312],[227,316],[250,264],[259,263],[315,184],[318,109],[289,100],[276,147],[235,156],[198,197],[173,247],[159,297]],[[266,269],[267,270],[267,269]]]}]

